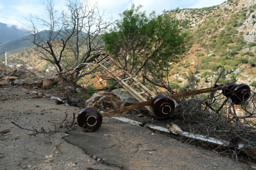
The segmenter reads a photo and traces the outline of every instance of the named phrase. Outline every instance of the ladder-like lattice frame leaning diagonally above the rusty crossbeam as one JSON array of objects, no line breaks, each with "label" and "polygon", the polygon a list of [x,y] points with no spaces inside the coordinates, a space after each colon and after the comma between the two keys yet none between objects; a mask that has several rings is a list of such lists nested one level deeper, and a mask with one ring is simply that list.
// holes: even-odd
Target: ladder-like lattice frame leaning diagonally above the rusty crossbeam
[{"label": "ladder-like lattice frame leaning diagonally above the rusty crossbeam", "polygon": [[[133,95],[139,102],[148,101],[146,98],[148,97],[151,100],[151,97],[154,97],[155,94],[152,93],[146,86],[144,86],[141,82],[139,82],[135,76],[128,73],[128,71],[122,69],[119,64],[117,64],[113,58],[109,57],[109,55],[103,55],[95,58],[95,63],[101,66],[111,77],[119,84],[121,84],[131,95]],[[125,77],[124,77],[125,76]],[[121,79],[120,77],[124,77]],[[132,84],[127,84],[126,80],[132,80]],[[133,86],[137,86],[141,92],[137,92]],[[151,106],[145,106],[149,111],[150,115],[153,113]]]}]

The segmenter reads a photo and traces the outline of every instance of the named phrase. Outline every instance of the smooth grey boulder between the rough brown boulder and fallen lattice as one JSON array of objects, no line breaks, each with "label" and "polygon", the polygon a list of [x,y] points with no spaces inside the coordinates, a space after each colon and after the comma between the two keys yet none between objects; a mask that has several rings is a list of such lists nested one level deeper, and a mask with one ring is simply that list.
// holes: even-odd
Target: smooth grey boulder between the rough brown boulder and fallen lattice
[{"label": "smooth grey boulder between the rough brown boulder and fallen lattice", "polygon": [[133,97],[128,91],[121,91],[120,89],[115,89],[112,91],[115,95],[120,97],[121,101],[123,102],[124,106],[129,106],[132,104],[137,104],[139,101],[135,97]]}]

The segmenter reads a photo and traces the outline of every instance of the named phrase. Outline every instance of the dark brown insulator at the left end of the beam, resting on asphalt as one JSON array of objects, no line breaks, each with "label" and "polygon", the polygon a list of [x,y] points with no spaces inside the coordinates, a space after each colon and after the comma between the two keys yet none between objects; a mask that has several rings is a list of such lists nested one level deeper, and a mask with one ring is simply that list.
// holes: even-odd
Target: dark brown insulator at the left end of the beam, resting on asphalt
[{"label": "dark brown insulator at the left end of the beam, resting on asphalt", "polygon": [[86,132],[95,132],[102,124],[102,115],[98,109],[84,108],[77,116],[77,123]]}]

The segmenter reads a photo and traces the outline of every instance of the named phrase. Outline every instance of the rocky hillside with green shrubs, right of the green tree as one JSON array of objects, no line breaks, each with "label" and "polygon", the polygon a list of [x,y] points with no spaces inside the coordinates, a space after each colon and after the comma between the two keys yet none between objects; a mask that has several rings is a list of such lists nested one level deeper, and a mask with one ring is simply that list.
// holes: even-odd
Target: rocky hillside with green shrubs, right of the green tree
[{"label": "rocky hillside with green shrubs, right of the green tree", "polygon": [[[171,74],[184,72],[180,66],[185,64],[202,64],[199,77],[208,82],[214,68],[230,71],[244,63],[239,70],[246,69],[238,81],[250,84],[256,80],[256,1],[228,0],[202,9],[181,9],[176,17],[191,24],[191,48]],[[180,81],[184,81],[182,76]]]}]

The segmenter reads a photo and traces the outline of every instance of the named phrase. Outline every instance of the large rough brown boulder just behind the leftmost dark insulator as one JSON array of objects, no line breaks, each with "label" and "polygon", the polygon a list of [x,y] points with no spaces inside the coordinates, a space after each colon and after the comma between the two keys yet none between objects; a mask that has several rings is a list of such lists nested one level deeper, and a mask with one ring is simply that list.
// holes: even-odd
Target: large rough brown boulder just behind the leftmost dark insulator
[{"label": "large rough brown boulder just behind the leftmost dark insulator", "polygon": [[96,109],[104,108],[110,109],[118,109],[124,107],[123,102],[120,97],[115,95],[112,92],[103,92],[103,93],[94,93],[93,96],[85,101],[85,108],[93,107]]}]

